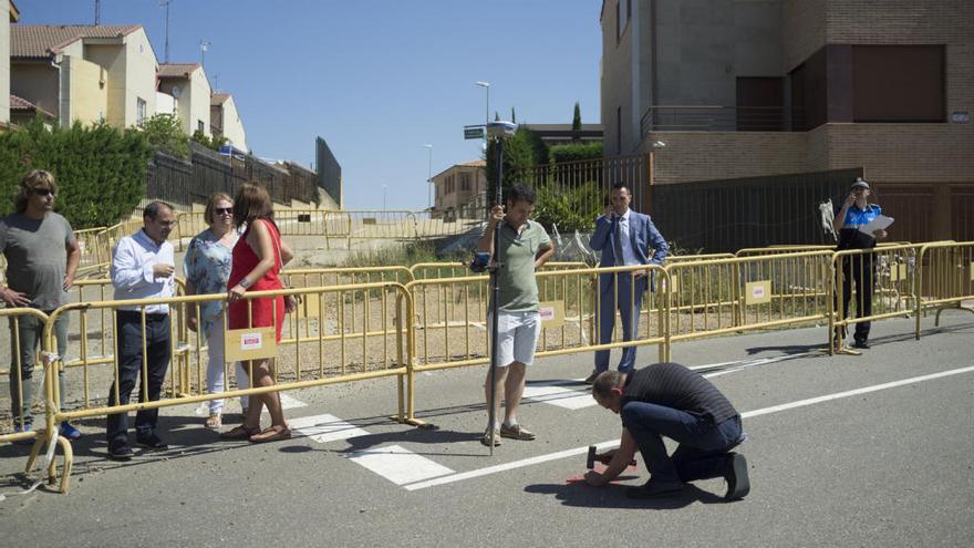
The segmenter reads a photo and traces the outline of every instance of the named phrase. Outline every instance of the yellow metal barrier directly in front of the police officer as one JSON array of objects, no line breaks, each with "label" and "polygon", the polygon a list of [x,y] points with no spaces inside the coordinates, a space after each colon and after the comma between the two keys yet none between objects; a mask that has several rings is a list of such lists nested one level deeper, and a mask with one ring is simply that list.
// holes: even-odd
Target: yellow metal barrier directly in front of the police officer
[{"label": "yellow metal barrier directly in front of the police officer", "polygon": [[[920,246],[899,245],[847,249],[832,254],[835,283],[829,314],[830,353],[858,354],[847,349],[849,325],[868,337],[869,322],[916,312],[916,256]],[[856,317],[849,311],[854,303]]]}]

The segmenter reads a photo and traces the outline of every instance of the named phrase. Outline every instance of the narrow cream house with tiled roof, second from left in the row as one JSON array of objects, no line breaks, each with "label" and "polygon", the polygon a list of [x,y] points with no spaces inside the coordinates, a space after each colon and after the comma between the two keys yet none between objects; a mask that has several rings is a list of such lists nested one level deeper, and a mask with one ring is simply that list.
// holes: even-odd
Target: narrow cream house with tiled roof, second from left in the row
[{"label": "narrow cream house with tiled roof, second from left in the row", "polygon": [[209,103],[213,91],[199,63],[163,63],[157,74],[159,93],[173,96],[186,135],[210,136]]}]

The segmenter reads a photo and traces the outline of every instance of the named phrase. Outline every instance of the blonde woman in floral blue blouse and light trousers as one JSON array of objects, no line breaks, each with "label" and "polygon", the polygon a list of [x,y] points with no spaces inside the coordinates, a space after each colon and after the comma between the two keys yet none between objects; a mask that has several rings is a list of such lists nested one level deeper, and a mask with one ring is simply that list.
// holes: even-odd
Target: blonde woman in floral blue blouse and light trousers
[{"label": "blonde woman in floral blue blouse and light trousers", "polygon": [[[230,276],[231,251],[237,244],[237,229],[234,226],[234,200],[224,193],[216,193],[206,203],[204,219],[209,228],[196,235],[189,242],[183,271],[186,273],[186,294],[222,294],[227,292],[227,278]],[[206,369],[206,385],[210,394],[224,392],[224,302],[200,302],[198,307],[188,307],[187,322],[189,329],[200,329],[206,337],[209,361]],[[240,362],[237,364],[237,385],[247,387],[247,372]],[[241,399],[247,410],[247,396]],[[207,428],[219,428],[222,425],[224,401],[213,400],[209,403]]]}]

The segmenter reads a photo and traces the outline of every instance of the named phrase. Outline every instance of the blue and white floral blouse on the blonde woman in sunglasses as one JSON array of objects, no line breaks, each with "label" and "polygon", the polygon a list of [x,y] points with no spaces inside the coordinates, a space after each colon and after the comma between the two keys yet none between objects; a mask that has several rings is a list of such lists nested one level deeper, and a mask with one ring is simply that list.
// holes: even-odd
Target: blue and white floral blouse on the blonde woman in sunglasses
[{"label": "blue and white floral blouse on the blonde woman in sunglasses", "polygon": [[[196,294],[218,294],[227,292],[227,279],[234,259],[234,244],[239,236],[234,231],[230,247],[220,244],[209,228],[196,235],[189,241],[186,258],[183,260],[183,272],[186,280],[193,283]],[[222,310],[219,301],[199,303],[199,320],[203,332],[208,333]]]}]

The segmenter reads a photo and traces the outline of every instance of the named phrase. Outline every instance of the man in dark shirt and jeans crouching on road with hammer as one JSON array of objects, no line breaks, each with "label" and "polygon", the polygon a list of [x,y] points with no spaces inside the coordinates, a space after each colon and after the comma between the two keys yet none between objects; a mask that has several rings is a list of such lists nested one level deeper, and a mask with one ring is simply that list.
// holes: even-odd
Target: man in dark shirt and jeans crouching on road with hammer
[{"label": "man in dark shirt and jeans crouching on road with hammer", "polygon": [[[709,381],[677,363],[657,363],[621,373],[601,373],[592,386],[599,405],[622,418],[619,448],[597,457],[608,464],[602,472],[589,472],[586,482],[601,487],[618,477],[636,448],[651,477],[630,487],[630,498],[676,495],[683,484],[723,477],[724,498],[742,498],[750,490],[747,461],[731,449],[744,441],[740,415]],[[666,454],[666,436],[680,444]]]}]

